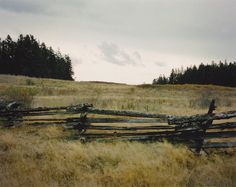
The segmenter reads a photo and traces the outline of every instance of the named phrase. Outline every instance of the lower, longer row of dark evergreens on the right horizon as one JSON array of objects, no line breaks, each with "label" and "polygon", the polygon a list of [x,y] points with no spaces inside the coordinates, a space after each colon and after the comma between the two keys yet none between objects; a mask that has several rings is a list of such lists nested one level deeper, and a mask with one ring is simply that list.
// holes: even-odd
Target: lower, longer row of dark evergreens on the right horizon
[{"label": "lower, longer row of dark evergreens on the right horizon", "polygon": [[153,84],[214,84],[236,86],[236,62],[212,62],[187,69],[172,69],[169,77],[164,75],[153,80]]}]

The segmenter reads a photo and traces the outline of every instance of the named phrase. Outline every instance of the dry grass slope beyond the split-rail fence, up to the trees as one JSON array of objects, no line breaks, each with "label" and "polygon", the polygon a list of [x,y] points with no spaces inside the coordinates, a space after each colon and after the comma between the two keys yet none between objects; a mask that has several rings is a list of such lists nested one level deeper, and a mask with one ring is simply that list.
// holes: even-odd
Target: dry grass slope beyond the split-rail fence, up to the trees
[{"label": "dry grass slope beyond the split-rail fence, up to the trees", "polygon": [[205,113],[213,98],[218,111],[236,107],[236,88],[213,85],[131,86],[0,75],[0,88],[0,95],[12,88],[33,92],[32,107],[87,102],[98,108],[185,115]]}]

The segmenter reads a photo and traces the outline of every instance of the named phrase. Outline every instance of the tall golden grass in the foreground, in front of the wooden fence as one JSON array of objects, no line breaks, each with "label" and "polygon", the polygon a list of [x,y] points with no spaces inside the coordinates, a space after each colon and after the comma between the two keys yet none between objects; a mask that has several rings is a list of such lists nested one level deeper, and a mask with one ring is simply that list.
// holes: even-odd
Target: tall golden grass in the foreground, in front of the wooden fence
[{"label": "tall golden grass in the foreground, in front of the wooden fence", "polygon": [[235,156],[196,156],[168,143],[81,144],[63,140],[63,133],[59,127],[1,131],[0,186],[236,185]]}]

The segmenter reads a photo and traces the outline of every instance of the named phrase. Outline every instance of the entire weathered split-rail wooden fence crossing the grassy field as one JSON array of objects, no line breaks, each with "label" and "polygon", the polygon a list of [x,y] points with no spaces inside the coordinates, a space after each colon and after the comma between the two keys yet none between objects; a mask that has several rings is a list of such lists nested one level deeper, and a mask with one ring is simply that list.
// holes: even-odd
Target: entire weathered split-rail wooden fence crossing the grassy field
[{"label": "entire weathered split-rail wooden fence crossing the grassy field", "polygon": [[[63,125],[81,141],[169,141],[200,152],[204,148],[236,147],[236,111],[174,116],[93,108],[90,104],[20,110],[10,103],[0,108],[5,127],[17,125]],[[219,120],[223,122],[219,123]],[[230,121],[229,121],[230,120]],[[214,123],[214,122],[218,123]]]}]

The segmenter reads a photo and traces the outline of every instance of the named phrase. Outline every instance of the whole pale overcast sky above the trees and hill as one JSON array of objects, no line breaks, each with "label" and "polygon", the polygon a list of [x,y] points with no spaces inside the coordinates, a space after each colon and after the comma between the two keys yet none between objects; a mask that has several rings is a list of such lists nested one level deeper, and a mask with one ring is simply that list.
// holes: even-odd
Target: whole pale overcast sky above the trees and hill
[{"label": "whole pale overcast sky above the trees and hill", "polygon": [[0,37],[33,34],[76,80],[151,83],[172,68],[235,61],[236,0],[0,0]]}]

